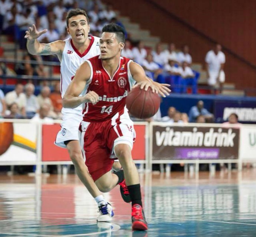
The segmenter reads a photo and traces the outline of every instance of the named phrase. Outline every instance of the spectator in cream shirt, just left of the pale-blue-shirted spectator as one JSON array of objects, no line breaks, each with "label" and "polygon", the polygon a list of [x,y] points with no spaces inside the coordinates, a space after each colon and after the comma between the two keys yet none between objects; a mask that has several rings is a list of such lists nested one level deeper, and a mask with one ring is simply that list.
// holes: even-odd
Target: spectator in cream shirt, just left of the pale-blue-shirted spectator
[{"label": "spectator in cream shirt, just left of the pale-blue-shirted spectator", "polygon": [[7,106],[11,106],[14,102],[17,103],[19,108],[19,113],[22,116],[26,116],[26,96],[23,93],[24,86],[20,83],[16,84],[15,89],[10,91],[5,96],[5,101]]}]

